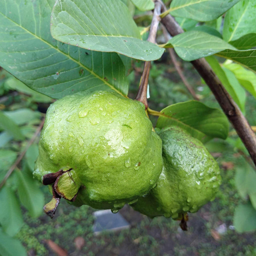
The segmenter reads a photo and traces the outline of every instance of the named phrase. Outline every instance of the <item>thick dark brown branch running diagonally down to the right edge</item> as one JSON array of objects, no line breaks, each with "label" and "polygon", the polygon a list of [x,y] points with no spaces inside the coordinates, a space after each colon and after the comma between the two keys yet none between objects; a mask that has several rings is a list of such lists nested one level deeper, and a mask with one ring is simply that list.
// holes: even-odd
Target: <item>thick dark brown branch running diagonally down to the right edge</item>
[{"label": "thick dark brown branch running diagonally down to the right edge", "polygon": [[[161,11],[166,11],[163,3]],[[162,18],[162,24],[165,26],[171,36],[176,36],[184,32],[170,14]],[[220,107],[235,128],[238,136],[243,141],[244,146],[247,148],[253,163],[256,165],[256,135],[252,131],[243,113],[236,105],[232,97],[228,94],[225,87],[221,84],[220,79],[216,76],[204,58],[193,60],[191,63],[211,89],[216,100],[219,102]]]}]

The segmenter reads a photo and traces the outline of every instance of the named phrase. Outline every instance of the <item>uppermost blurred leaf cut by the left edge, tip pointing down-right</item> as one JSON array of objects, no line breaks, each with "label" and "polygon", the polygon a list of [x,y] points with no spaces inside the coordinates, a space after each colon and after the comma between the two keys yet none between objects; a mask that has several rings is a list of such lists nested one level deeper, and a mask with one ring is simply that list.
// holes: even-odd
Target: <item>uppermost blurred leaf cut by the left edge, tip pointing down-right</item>
[{"label": "uppermost blurred leaf cut by the left edge, tip pointing down-right", "polygon": [[19,126],[15,124],[10,117],[3,111],[0,111],[0,128],[6,130],[15,140],[24,140],[24,135],[20,132]]}]

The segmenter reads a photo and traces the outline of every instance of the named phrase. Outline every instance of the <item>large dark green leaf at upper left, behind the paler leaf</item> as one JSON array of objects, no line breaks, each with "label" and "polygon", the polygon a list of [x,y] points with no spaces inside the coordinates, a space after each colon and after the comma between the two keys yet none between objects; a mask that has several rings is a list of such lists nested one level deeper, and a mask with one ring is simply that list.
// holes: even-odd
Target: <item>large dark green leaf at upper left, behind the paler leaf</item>
[{"label": "large dark green leaf at upper left, behind the paler leaf", "polygon": [[52,38],[53,4],[0,0],[0,66],[52,98],[85,90],[127,95],[124,66],[116,53],[92,52]]}]

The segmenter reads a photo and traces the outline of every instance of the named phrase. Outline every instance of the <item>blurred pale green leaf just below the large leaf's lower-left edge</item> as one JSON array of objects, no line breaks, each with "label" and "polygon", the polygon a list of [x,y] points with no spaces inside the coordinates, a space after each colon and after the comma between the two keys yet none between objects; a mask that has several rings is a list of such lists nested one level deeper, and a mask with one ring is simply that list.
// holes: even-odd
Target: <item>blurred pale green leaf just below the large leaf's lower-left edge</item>
[{"label": "blurred pale green leaf just below the large leaf's lower-left edge", "polygon": [[52,99],[50,97],[30,89],[26,84],[23,84],[21,81],[19,81],[15,77],[8,78],[4,83],[4,87],[9,90],[15,90],[18,92],[23,92],[25,94],[31,95],[32,101],[36,101],[36,102],[51,102],[52,101]]}]

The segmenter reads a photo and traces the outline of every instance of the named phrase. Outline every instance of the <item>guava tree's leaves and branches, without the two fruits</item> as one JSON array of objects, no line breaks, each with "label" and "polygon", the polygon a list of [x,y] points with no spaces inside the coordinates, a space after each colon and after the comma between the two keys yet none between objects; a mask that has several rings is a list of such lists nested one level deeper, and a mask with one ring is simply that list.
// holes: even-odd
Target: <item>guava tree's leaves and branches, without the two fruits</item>
[{"label": "guava tree's leaves and branches, without the two fruits", "polygon": [[[26,92],[32,89],[36,99],[49,101],[49,97],[61,99],[99,90],[127,98],[132,60],[145,61],[136,100],[145,105],[147,115],[158,116],[156,128],[179,126],[205,143],[213,138],[226,139],[228,120],[233,125],[247,149],[241,146],[245,158],[252,159],[236,176],[245,201],[237,206],[234,222],[239,232],[254,230],[256,174],[251,161],[256,164],[256,136],[244,117],[244,106],[247,92],[256,98],[255,0],[169,2],[0,0],[0,66],[12,75],[8,75],[9,84],[13,86],[15,81]],[[141,17],[152,11],[150,27],[136,25],[135,8]],[[163,44],[156,44],[157,33],[163,34]],[[165,50],[174,58],[173,49],[195,67],[223,112],[200,103],[189,86],[195,100],[170,105],[160,112],[148,106],[150,61],[160,59]],[[227,60],[219,63],[219,57]],[[181,74],[179,67],[177,72]],[[24,84],[30,89],[24,89]],[[15,255],[16,250],[24,252],[12,238],[23,222],[20,204],[34,217],[41,214],[44,204],[32,172],[23,171],[34,169],[38,148],[33,141],[44,120],[38,116],[31,119],[30,112],[22,111],[26,122],[34,122],[37,128],[21,127],[26,123],[19,118],[21,112],[0,112],[1,158],[8,159],[0,169],[0,249],[8,255]],[[22,142],[18,156],[17,151],[5,148],[11,140]],[[21,161],[22,168],[18,169]],[[15,246],[8,246],[10,241]]]}]

